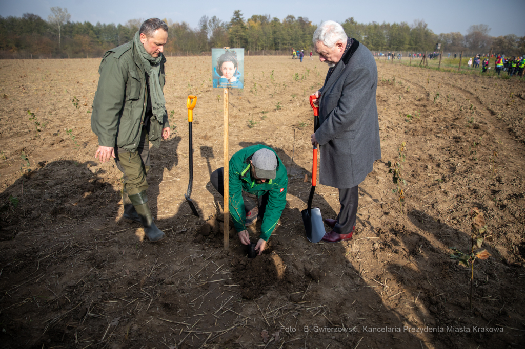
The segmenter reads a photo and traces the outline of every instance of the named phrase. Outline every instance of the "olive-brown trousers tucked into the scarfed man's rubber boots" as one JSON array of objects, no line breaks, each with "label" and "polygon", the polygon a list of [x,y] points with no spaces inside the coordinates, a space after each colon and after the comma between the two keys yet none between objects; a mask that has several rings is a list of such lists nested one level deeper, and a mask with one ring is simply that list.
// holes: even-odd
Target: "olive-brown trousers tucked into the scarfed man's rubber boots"
[{"label": "olive-brown trousers tucked into the scarfed man's rubber boots", "polygon": [[150,139],[145,128],[142,129],[140,143],[134,152],[115,147],[115,162],[122,172],[124,192],[138,194],[148,189],[146,176],[150,170]]}]

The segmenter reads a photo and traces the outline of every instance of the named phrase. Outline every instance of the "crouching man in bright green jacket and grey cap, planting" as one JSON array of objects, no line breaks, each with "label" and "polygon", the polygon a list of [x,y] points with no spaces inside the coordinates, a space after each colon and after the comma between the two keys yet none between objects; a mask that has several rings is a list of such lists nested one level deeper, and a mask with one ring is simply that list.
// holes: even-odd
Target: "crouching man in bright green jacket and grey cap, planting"
[{"label": "crouching man in bright green jacket and grey cap, planting", "polygon": [[[286,205],[286,167],[274,149],[261,144],[237,151],[228,165],[229,213],[244,245],[250,243],[246,226],[254,224],[257,217],[262,218],[261,234],[255,246],[260,255]],[[222,167],[212,173],[211,182],[223,195]],[[259,198],[258,207],[243,191]]]}]

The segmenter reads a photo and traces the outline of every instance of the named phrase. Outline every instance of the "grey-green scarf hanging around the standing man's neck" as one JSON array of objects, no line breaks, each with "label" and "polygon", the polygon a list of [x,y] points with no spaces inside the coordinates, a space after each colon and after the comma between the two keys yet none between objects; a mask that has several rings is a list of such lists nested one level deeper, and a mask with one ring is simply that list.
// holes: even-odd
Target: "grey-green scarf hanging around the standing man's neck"
[{"label": "grey-green scarf hanging around the standing man's neck", "polygon": [[144,49],[142,42],[140,42],[140,34],[138,31],[133,40],[135,41],[135,47],[137,47],[139,51],[142,64],[144,64],[144,70],[150,77],[151,111],[153,112],[153,116],[162,124],[164,115],[166,115],[166,100],[164,99],[164,93],[162,92],[159,81],[162,53],[159,54],[157,58],[151,57]]}]

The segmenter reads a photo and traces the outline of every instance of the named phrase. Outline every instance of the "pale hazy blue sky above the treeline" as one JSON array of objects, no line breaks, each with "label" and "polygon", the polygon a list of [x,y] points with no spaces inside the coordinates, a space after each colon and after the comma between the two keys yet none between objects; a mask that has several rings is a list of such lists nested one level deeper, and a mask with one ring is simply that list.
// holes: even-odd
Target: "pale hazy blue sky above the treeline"
[{"label": "pale hazy blue sky above the treeline", "polygon": [[[154,6],[155,3],[159,5]],[[92,24],[125,24],[128,19],[158,17],[174,22],[185,21],[195,28],[204,15],[229,21],[234,10],[240,9],[245,19],[251,15],[270,15],[279,19],[292,15],[308,17],[313,24],[320,24],[327,19],[342,23],[346,18],[354,17],[359,23],[405,21],[409,25],[415,19],[423,19],[435,34],[459,31],[465,35],[470,25],[487,24],[491,36],[525,36],[525,0],[331,0],[322,3],[318,0],[0,0],[0,16],[20,17],[24,13],[33,13],[47,19],[53,6],[67,8],[72,21]]]}]

